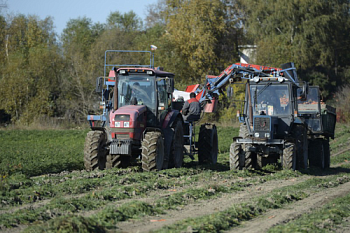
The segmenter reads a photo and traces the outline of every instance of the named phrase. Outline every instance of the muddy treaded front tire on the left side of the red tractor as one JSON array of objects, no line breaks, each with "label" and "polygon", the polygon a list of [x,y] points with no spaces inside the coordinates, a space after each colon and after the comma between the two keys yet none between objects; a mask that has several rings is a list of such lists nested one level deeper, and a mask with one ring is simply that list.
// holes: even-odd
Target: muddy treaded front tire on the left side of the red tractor
[{"label": "muddy treaded front tire on the left side of the red tractor", "polygon": [[84,165],[87,171],[106,167],[106,134],[103,131],[87,133],[84,145]]}]

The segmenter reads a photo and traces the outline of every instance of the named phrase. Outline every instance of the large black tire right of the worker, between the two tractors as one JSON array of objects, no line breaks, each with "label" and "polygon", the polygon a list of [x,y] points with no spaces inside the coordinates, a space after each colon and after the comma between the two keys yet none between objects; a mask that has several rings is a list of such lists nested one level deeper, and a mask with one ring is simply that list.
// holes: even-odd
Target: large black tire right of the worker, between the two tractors
[{"label": "large black tire right of the worker, between the two tractors", "polygon": [[201,125],[198,138],[198,160],[200,164],[215,164],[218,158],[218,133],[214,124]]}]

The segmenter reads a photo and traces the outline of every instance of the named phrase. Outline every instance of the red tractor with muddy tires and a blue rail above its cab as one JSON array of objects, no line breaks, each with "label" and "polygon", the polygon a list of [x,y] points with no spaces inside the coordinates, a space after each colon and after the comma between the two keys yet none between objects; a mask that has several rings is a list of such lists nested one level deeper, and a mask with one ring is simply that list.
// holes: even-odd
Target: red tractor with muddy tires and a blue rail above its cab
[{"label": "red tractor with muddy tires and a blue rail above its cab", "polygon": [[[107,55],[116,52],[149,53],[150,65],[107,64]],[[106,69],[111,66],[113,69],[106,78]],[[152,52],[107,50],[104,77],[97,79],[96,91],[102,96],[103,113],[88,116],[91,131],[84,148],[86,170],[127,167],[137,158],[141,158],[144,171],[182,166],[186,151],[184,121],[181,107],[177,103],[173,107],[174,74],[155,69]],[[216,128],[201,128],[199,138],[203,142],[199,144],[213,141],[216,136],[216,144],[214,138],[210,150],[214,159],[209,161],[215,163]],[[199,157],[203,158],[200,161],[208,162],[207,151]]]}]

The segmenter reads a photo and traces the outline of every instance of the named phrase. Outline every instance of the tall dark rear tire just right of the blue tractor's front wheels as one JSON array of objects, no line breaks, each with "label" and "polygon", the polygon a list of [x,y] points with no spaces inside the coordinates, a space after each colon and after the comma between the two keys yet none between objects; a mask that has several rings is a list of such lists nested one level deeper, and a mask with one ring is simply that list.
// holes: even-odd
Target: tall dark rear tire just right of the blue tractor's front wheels
[{"label": "tall dark rear tire just right of the blue tractor's front wheels", "polygon": [[296,169],[307,169],[309,154],[308,154],[308,140],[307,129],[304,125],[296,125],[293,128],[293,138],[295,138],[297,167]]}]

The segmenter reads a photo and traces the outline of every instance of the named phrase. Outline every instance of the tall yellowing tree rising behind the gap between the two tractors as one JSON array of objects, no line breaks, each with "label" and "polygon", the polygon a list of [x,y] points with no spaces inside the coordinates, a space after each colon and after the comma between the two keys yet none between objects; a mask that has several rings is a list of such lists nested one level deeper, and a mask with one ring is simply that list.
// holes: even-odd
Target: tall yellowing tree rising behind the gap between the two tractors
[{"label": "tall yellowing tree rising behind the gap between the two tractors", "polygon": [[[168,51],[181,77],[199,81],[217,72],[215,47],[225,29],[224,5],[215,0],[167,1],[166,34]],[[172,62],[173,63],[173,62]]]}]

